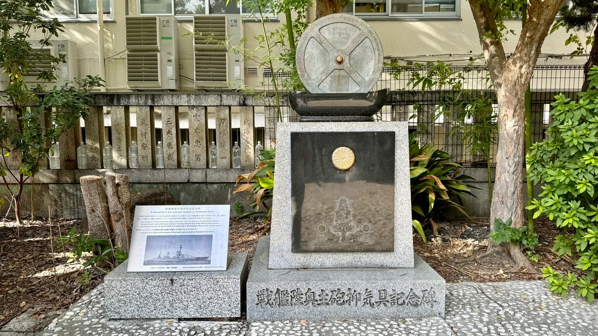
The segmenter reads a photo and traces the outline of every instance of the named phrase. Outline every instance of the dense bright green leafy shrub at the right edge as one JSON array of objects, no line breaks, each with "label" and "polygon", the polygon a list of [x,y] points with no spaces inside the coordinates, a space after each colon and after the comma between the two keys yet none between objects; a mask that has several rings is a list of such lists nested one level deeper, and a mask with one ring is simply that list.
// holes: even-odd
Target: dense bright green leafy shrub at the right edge
[{"label": "dense bright green leafy shrub at the right edge", "polygon": [[[527,209],[535,210],[534,218],[556,221],[563,234],[553,251],[578,256],[575,267],[592,274],[598,271],[598,67],[588,75],[588,90],[578,93],[578,101],[555,97],[548,139],[532,145],[528,177],[543,191]],[[588,279],[594,277],[575,285],[591,293]]]}]

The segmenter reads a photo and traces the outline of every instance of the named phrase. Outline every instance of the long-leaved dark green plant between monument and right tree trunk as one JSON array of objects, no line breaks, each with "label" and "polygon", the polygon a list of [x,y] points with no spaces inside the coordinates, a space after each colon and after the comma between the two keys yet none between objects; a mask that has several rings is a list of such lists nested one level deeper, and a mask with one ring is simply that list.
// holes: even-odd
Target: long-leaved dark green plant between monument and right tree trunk
[{"label": "long-leaved dark green plant between monument and right tree trunk", "polygon": [[[457,176],[462,167],[450,162],[450,155],[435,149],[434,143],[420,148],[417,134],[409,135],[409,163],[411,179],[411,210],[415,218],[428,221],[437,213],[450,207],[467,213],[462,206],[462,197],[471,193],[467,175]],[[475,197],[475,196],[474,196]]]}]

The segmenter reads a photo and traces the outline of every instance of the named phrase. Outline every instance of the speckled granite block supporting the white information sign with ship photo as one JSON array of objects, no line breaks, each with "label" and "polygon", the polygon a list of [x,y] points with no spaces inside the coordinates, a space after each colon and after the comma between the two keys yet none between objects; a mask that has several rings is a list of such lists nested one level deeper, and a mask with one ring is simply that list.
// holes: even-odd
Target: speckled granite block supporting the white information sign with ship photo
[{"label": "speckled granite block supporting the white information sign with ship photo", "polygon": [[228,253],[226,271],[127,273],[127,261],[104,278],[111,319],[240,317],[247,253]]}]

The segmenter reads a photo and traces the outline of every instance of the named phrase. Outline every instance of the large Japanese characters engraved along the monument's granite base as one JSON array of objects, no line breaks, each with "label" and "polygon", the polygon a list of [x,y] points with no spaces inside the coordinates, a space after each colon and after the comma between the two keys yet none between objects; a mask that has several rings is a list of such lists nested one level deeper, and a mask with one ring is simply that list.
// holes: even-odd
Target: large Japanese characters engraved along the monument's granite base
[{"label": "large Japanese characters engraved along the monument's granite base", "polygon": [[312,289],[305,291],[301,288],[294,289],[260,289],[256,294],[256,305],[260,308],[293,307],[293,306],[351,306],[364,308],[384,308],[401,306],[426,306],[432,305],[437,300],[434,288],[409,289],[399,292],[395,289],[368,289],[356,291],[355,289]]}]

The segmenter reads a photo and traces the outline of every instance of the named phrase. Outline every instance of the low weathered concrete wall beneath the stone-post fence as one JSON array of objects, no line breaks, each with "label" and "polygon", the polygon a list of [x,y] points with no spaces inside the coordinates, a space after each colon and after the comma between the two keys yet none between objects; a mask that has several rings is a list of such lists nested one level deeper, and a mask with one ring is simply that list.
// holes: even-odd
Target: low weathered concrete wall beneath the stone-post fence
[{"label": "low weathered concrete wall beneath the stone-post fence", "polygon": [[[193,170],[193,169],[192,169]],[[131,193],[135,194],[140,190],[147,188],[157,188],[160,190],[164,189],[163,173],[158,169],[137,169],[137,170],[114,170],[118,173],[129,173],[131,183]],[[151,175],[148,175],[148,171],[151,171]],[[188,173],[190,170],[186,169],[167,169],[166,170],[166,190],[173,194],[181,204],[231,204],[231,216],[237,215],[233,210],[233,205],[236,202],[246,204],[245,193],[232,194],[234,190],[234,178],[237,172],[225,172],[221,173],[220,176],[207,176],[208,181],[221,181],[221,182],[192,182],[199,181],[197,174]],[[206,170],[210,172],[210,169]],[[214,170],[215,171],[215,170]],[[105,170],[75,170],[69,173],[68,171],[59,170],[63,172],[64,176],[60,178],[60,181],[68,183],[56,183],[59,181],[56,178],[56,174],[45,170],[41,173],[41,181],[36,181],[33,185],[33,207],[35,208],[35,215],[46,217],[48,216],[48,206],[50,206],[50,212],[53,218],[85,218],[85,207],[83,204],[83,196],[81,195],[81,187],[76,182],[78,178],[83,175],[103,175]],[[196,173],[200,173],[199,170]],[[476,197],[466,197],[463,199],[463,203],[466,212],[470,216],[490,216],[490,204],[488,201],[488,178],[487,171],[485,168],[467,168],[465,173],[475,178],[474,182],[469,182],[475,187],[480,188],[479,190],[473,190],[473,194]],[[52,180],[56,178],[55,180]],[[74,178],[74,179],[71,179]],[[492,179],[494,179],[494,169],[492,169]],[[46,183],[52,181],[52,183]],[[151,181],[151,183],[142,183],[141,181]],[[205,179],[203,181],[206,181]],[[229,181],[229,182],[224,182]],[[44,182],[40,184],[39,182]],[[524,195],[523,201],[526,202],[525,193],[525,182],[523,184]],[[26,185],[23,200],[22,200],[22,215],[26,216],[30,214],[31,208],[31,188],[30,184]],[[541,193],[541,188],[536,186],[534,188],[534,194],[538,195]],[[0,197],[7,196],[4,187],[0,187]],[[245,210],[250,210],[245,206]],[[4,204],[0,207],[0,213],[5,215],[8,213],[9,217],[14,216],[13,213],[8,209],[8,204]],[[447,216],[459,216],[460,213],[447,210],[445,213]]]}]

